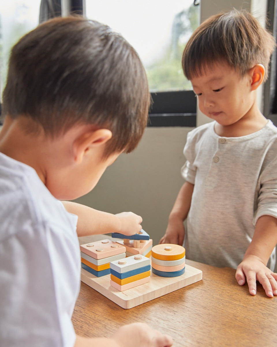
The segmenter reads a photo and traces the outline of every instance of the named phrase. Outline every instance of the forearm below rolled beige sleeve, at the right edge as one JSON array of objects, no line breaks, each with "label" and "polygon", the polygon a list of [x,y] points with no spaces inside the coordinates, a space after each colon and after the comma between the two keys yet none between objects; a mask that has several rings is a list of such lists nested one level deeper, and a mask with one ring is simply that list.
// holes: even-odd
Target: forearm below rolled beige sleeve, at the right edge
[{"label": "forearm below rolled beige sleeve, at the right edge", "polygon": [[247,248],[244,257],[255,255],[266,265],[276,244],[277,219],[270,215],[263,215],[256,223],[252,242]]}]

